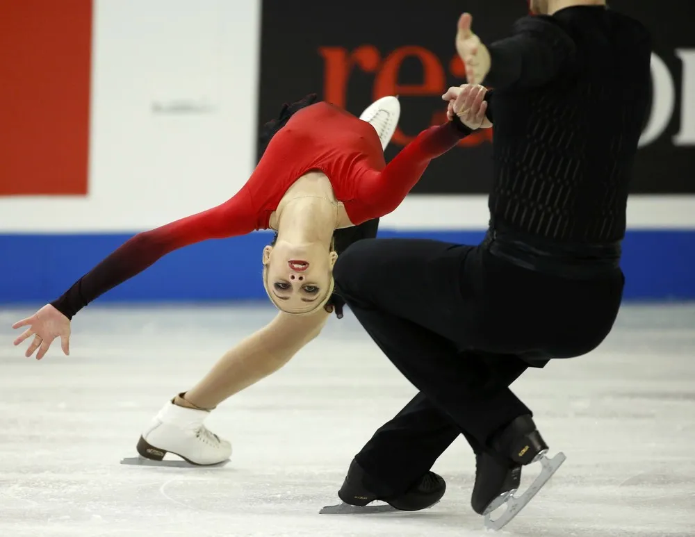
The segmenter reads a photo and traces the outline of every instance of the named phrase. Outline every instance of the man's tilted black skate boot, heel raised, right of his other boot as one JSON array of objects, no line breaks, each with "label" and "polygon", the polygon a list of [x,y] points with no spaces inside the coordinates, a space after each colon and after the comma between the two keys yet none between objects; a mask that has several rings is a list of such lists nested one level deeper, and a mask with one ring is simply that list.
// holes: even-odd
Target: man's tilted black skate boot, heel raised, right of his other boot
[{"label": "man's tilted black skate boot, heel raised, right of his other boot", "polygon": [[516,418],[493,437],[491,445],[493,452],[478,454],[475,459],[471,506],[479,515],[504,504],[518,490],[521,467],[548,451],[530,415]]}]

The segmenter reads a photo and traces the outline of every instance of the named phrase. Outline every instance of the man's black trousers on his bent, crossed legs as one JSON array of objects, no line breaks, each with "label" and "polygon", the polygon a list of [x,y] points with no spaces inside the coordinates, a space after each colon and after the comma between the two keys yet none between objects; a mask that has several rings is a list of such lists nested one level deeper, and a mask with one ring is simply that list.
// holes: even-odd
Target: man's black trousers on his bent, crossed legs
[{"label": "man's black trousers on his bent, crossed legs", "polygon": [[[518,267],[486,245],[361,240],[338,258],[336,290],[420,393],[356,456],[394,488],[429,470],[459,435],[489,449],[530,410],[509,390],[534,361],[596,348],[623,290],[619,269],[589,280]],[[552,389],[552,387],[550,388]]]}]

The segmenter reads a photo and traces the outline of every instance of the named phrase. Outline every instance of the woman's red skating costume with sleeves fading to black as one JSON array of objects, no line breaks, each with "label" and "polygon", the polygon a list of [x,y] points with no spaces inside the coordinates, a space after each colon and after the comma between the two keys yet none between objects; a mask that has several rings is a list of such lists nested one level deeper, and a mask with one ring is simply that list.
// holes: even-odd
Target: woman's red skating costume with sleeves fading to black
[{"label": "woman's red skating costume with sleeves fading to black", "polygon": [[234,197],[138,233],[51,304],[72,319],[90,301],[175,249],[268,229],[270,215],[285,192],[312,170],[326,174],[352,224],[384,216],[403,201],[432,158],[470,133],[458,120],[430,127],[386,165],[373,126],[326,102],[302,108],[273,136],[249,181]]}]

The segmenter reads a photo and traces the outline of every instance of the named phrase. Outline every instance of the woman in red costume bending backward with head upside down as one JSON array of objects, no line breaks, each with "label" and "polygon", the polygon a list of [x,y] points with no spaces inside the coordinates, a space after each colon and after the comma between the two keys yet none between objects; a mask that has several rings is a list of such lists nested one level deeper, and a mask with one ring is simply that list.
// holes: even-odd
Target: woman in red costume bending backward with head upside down
[{"label": "woman in red costume bending backward with head upside down", "polygon": [[[263,285],[281,311],[267,327],[229,350],[197,386],[162,408],[138,442],[145,458],[170,452],[189,463],[227,460],[231,444],[203,422],[225,399],[278,370],[318,336],[334,306],[331,268],[338,251],[376,236],[378,217],[394,210],[430,160],[486,126],[485,90],[463,86],[449,102],[449,121],[423,131],[389,165],[383,149],[398,122],[395,97],[384,97],[354,117],[315,96],[285,107],[267,124],[268,143],[247,184],[224,204],[139,233],[101,261],[65,294],[13,328],[28,327],[26,350],[41,359],[61,338],[70,354],[70,320],[107,290],[135,276],[168,252],[209,238],[275,229],[275,245],[263,249]],[[331,300],[333,298],[333,300]],[[336,304],[337,302],[337,304]],[[297,315],[302,314],[302,315]]]}]

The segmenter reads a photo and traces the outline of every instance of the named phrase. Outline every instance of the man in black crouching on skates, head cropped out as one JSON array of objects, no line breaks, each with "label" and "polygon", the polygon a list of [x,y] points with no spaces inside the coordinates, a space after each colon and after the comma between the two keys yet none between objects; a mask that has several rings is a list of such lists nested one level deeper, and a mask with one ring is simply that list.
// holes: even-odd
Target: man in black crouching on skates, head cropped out
[{"label": "man in black crouching on skates, head cropped out", "polygon": [[[363,240],[334,267],[336,291],[420,390],[355,456],[338,493],[345,504],[388,502],[463,433],[476,456],[473,509],[499,529],[564,460],[544,456],[532,412],[509,386],[529,366],[587,354],[612,329],[651,44],[644,26],[605,1],[530,7],[537,16],[489,46],[471,15],[459,19],[468,82],[495,88],[484,242]],[[545,471],[514,498],[521,468],[534,461]]]}]

